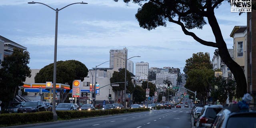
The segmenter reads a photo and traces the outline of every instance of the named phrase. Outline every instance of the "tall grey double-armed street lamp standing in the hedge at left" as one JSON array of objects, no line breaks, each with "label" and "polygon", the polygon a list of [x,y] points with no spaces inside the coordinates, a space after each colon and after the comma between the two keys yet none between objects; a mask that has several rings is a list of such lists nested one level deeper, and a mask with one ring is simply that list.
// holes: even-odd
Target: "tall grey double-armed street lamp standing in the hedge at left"
[{"label": "tall grey double-armed street lamp standing in the hedge at left", "polygon": [[[64,6],[63,8],[52,8],[50,6],[48,6],[47,4],[44,4],[44,3],[40,3],[40,2],[28,2],[28,4],[43,4],[49,8],[51,8],[52,10],[54,10],[56,12],[56,20],[55,20],[55,40],[54,40],[54,66],[53,66],[53,94],[52,94],[52,112],[53,112],[53,120],[54,121],[57,121],[58,120],[58,115],[56,113],[56,109],[55,109],[55,103],[56,103],[56,100],[55,100],[55,94],[56,94],[56,60],[57,60],[57,34],[58,34],[58,12],[60,10],[62,10],[63,8],[66,8],[67,6],[70,6],[72,4],[68,4],[67,6]],[[77,2],[77,3],[73,3],[73,4],[88,4],[88,3],[85,3],[85,2]]]}]

